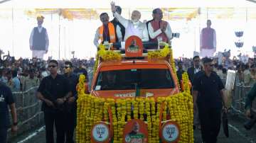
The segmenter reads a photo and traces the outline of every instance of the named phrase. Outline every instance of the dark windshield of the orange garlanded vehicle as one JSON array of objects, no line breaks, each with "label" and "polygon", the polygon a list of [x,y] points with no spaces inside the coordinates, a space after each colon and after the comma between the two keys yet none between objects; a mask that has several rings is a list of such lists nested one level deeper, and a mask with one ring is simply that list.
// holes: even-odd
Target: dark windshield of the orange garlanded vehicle
[{"label": "dark windshield of the orange garlanded vehicle", "polygon": [[100,71],[95,91],[129,90],[138,88],[174,88],[169,69],[124,69]]}]

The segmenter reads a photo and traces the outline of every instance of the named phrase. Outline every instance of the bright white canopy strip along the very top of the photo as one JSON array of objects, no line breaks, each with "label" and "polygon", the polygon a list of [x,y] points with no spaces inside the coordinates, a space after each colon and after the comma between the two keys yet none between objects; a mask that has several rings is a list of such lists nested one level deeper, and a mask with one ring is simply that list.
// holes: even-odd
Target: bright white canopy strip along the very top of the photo
[{"label": "bright white canopy strip along the very top of the photo", "polygon": [[[256,7],[256,4],[246,0],[117,0],[122,8],[149,7]],[[106,0],[11,0],[0,4],[0,8],[110,8]]]}]

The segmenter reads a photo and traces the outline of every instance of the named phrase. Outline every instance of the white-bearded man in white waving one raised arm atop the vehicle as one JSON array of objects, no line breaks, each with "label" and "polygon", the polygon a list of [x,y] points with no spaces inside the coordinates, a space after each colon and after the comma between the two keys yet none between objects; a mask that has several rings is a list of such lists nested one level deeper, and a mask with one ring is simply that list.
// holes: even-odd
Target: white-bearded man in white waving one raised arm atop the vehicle
[{"label": "white-bearded man in white waving one raised arm atop the vehicle", "polygon": [[141,18],[141,13],[139,11],[132,11],[131,20],[127,20],[116,12],[116,7],[114,2],[111,3],[111,9],[114,13],[114,17],[124,26],[125,35],[124,41],[129,38],[129,36],[136,35],[142,39],[143,42],[149,41],[149,34],[146,29],[146,24],[139,21]]}]

